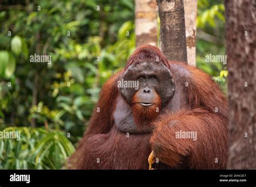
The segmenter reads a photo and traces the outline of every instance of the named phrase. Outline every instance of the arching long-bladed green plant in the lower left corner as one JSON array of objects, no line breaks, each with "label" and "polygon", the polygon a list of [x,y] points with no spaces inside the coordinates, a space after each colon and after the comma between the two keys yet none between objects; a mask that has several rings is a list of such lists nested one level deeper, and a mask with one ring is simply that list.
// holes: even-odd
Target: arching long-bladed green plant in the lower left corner
[{"label": "arching long-bladed green plant in the lower left corner", "polygon": [[75,148],[63,132],[8,127],[20,139],[0,139],[0,169],[62,169]]}]

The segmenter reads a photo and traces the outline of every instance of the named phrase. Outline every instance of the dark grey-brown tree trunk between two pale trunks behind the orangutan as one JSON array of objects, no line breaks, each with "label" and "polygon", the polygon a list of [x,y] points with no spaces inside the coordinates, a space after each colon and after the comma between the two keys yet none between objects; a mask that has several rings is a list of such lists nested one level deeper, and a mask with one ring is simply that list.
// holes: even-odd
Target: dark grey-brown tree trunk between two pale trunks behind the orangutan
[{"label": "dark grey-brown tree trunk between two pale trunks behind the orangutan", "polygon": [[183,0],[157,0],[160,47],[168,60],[187,62]]}]

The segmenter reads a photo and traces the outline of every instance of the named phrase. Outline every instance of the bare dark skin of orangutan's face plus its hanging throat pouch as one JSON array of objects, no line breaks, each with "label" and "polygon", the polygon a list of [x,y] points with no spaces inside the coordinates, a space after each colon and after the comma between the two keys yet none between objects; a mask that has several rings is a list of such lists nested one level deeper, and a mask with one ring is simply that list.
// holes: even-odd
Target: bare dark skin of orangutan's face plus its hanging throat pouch
[{"label": "bare dark skin of orangutan's face plus its hanging throat pouch", "polygon": [[132,99],[136,94],[137,103],[146,109],[146,107],[151,107],[155,104],[156,97],[159,95],[161,107],[165,107],[175,91],[175,84],[170,70],[163,63],[153,61],[134,63],[126,69],[122,79],[124,81],[139,81],[139,88],[119,88],[122,98],[118,99],[116,111],[114,112],[114,120],[117,127],[125,133],[150,132],[151,130],[137,131],[131,110],[134,104]]}]

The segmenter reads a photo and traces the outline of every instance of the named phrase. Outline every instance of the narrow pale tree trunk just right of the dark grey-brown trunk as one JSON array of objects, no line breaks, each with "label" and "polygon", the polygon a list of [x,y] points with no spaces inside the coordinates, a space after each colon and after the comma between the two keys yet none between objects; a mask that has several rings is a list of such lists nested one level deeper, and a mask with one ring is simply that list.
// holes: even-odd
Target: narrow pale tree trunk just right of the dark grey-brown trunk
[{"label": "narrow pale tree trunk just right of the dark grey-brown trunk", "polygon": [[196,66],[197,0],[184,0],[187,64]]}]

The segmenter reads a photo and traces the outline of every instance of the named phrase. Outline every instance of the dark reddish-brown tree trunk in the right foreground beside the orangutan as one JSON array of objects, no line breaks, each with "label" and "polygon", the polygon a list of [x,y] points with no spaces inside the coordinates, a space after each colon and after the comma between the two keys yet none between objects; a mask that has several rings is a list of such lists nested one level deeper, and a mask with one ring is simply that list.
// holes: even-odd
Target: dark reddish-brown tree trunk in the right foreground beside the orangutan
[{"label": "dark reddish-brown tree trunk in the right foreground beside the orangutan", "polygon": [[226,1],[228,169],[256,169],[256,1]]}]

